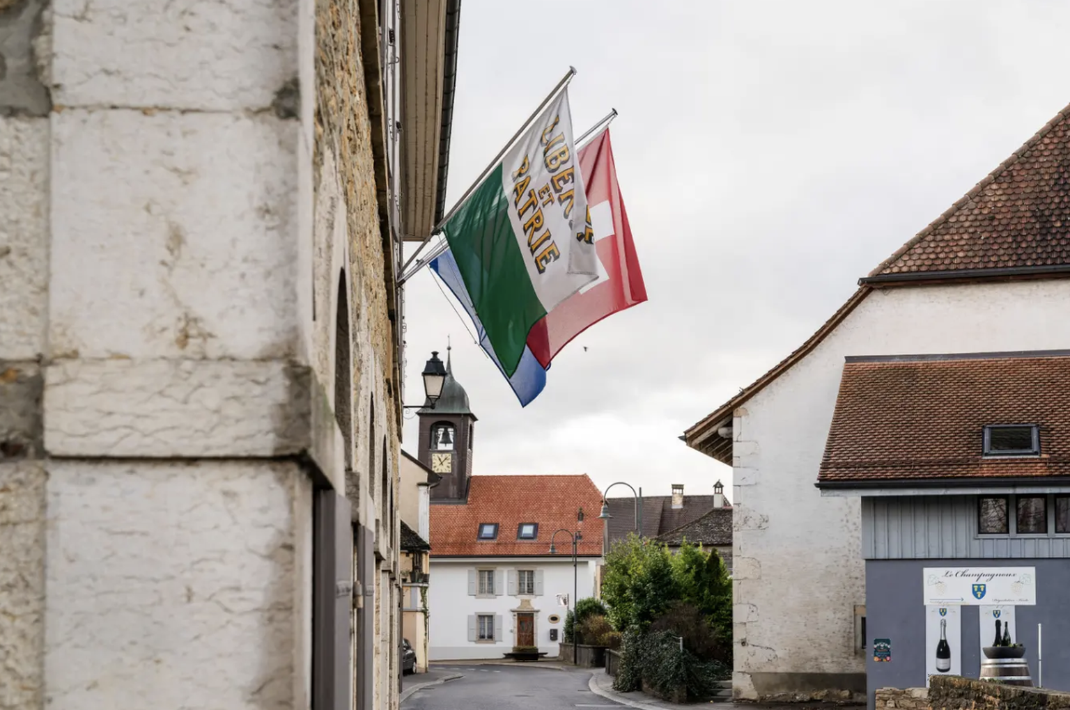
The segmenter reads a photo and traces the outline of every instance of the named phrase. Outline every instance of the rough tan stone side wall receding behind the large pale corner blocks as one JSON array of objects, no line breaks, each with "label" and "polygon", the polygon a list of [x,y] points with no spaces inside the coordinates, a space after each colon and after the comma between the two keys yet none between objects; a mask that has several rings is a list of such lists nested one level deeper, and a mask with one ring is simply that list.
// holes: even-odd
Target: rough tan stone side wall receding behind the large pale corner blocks
[{"label": "rough tan stone side wall receding behind the large pale corner blocks", "polygon": [[[387,15],[381,11],[388,11]],[[373,532],[373,590],[357,612],[371,628],[358,654],[357,707],[396,708],[400,693],[401,587],[398,566],[400,328],[394,269],[383,102],[383,28],[394,2],[317,0],[310,154],[314,195],[314,368],[325,382],[349,367],[352,466],[346,491],[353,514]],[[399,35],[395,32],[395,35]],[[304,96],[302,99],[304,101]],[[330,362],[335,349],[339,277],[349,311],[349,362]],[[410,639],[412,640],[412,639]],[[370,689],[369,689],[370,685]]]}]

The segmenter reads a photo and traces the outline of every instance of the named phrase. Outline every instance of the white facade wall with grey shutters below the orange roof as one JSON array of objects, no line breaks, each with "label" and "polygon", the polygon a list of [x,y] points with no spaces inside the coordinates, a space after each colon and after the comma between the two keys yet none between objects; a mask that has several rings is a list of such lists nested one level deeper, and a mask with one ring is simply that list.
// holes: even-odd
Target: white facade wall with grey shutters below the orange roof
[{"label": "white facade wall with grey shutters below the orange roof", "polygon": [[[433,551],[432,551],[433,552]],[[580,559],[577,567],[579,599],[594,593],[597,560]],[[494,597],[472,597],[469,595],[468,574],[474,569],[495,569],[502,578],[501,595]],[[540,597],[519,597],[508,595],[505,588],[508,570],[541,570],[542,595]],[[523,600],[529,600],[535,612],[535,643],[540,651],[556,657],[559,643],[550,640],[550,629],[557,629],[559,640],[565,633],[565,614],[557,605],[556,596],[572,596],[572,560],[548,560],[539,558],[463,558],[437,559],[431,557],[431,584],[428,588],[428,609],[430,614],[430,659],[431,661],[459,661],[465,659],[501,659],[513,650],[516,638],[514,609]],[[570,602],[571,603],[571,602]],[[502,617],[502,637],[493,644],[472,643],[468,639],[469,616],[473,614],[494,614]],[[551,624],[549,617],[556,614],[561,620]]]}]

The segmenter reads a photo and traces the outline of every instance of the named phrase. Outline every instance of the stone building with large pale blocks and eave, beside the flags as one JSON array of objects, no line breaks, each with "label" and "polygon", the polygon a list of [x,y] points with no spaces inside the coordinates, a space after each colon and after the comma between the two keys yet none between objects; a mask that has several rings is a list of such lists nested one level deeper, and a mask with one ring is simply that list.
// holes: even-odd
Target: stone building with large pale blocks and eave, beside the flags
[{"label": "stone building with large pale blocks and eave, beside the flags", "polygon": [[397,707],[458,5],[0,0],[0,709]]}]

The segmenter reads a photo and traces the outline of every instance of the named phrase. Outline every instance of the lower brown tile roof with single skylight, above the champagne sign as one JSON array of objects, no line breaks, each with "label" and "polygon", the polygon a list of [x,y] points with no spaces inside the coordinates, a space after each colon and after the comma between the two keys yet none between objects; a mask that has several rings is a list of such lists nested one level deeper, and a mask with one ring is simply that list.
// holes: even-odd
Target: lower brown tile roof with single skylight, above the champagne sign
[{"label": "lower brown tile roof with single skylight, above the champagne sign", "polygon": [[[1061,354],[847,358],[819,485],[1068,476],[1068,392]],[[982,458],[1006,423],[1038,425],[1041,456]]]}]

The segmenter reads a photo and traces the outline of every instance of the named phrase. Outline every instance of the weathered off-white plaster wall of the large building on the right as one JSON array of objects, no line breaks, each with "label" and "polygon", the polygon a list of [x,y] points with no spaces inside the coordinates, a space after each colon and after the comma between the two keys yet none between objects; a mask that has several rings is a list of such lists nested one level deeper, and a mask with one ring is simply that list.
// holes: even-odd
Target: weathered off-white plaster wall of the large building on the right
[{"label": "weathered off-white plaster wall of the large building on the right", "polygon": [[[814,483],[847,355],[1070,348],[1070,280],[888,289],[733,420],[734,686],[777,673],[865,673],[854,605],[866,603],[859,500]],[[816,642],[816,643],[815,643]]]}]

